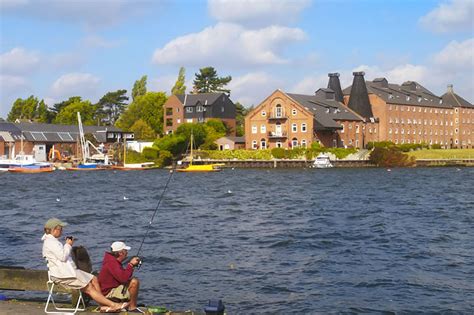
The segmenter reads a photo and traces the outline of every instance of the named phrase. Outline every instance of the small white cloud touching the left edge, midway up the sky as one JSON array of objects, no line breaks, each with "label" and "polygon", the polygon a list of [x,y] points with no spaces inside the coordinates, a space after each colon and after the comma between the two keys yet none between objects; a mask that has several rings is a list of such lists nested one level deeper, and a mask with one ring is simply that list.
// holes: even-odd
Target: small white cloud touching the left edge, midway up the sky
[{"label": "small white cloud touching the left edge, midway up the sky", "polygon": [[37,52],[26,51],[16,47],[0,55],[0,71],[6,74],[28,74],[40,65],[40,56]]}]

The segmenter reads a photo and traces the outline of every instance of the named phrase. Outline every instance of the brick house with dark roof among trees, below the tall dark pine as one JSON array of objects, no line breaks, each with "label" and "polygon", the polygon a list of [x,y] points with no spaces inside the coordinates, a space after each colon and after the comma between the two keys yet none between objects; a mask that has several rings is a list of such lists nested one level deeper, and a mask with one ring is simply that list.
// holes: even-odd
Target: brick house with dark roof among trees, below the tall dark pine
[{"label": "brick house with dark roof among trees, below the tall dark pine", "polygon": [[211,118],[222,120],[235,135],[236,108],[225,93],[171,95],[163,105],[163,132],[173,133],[183,123],[204,123]]}]

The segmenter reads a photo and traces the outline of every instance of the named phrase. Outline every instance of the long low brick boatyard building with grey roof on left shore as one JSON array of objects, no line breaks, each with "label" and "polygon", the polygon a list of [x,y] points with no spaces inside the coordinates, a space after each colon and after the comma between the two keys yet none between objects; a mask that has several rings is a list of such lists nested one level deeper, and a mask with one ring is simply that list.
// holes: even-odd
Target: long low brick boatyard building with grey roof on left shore
[{"label": "long low brick boatyard building with grey roof on left shore", "polygon": [[[123,139],[133,140],[133,132],[125,132],[114,126],[83,126],[85,134],[91,134],[101,148],[108,148]],[[53,148],[61,154],[78,156],[79,127],[77,125],[40,124],[33,122],[0,122],[0,156],[14,158],[21,151],[34,155],[39,162],[47,161]]]}]

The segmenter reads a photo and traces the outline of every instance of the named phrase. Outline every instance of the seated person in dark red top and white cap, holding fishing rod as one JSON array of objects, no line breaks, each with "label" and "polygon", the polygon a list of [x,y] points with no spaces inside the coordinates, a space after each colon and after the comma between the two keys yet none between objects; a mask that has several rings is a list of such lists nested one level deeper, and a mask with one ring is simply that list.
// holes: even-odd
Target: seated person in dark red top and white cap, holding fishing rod
[{"label": "seated person in dark red top and white cap, holding fishing rod", "polygon": [[137,308],[138,289],[140,282],[132,277],[133,269],[138,266],[140,259],[133,257],[124,267],[123,261],[127,258],[130,247],[124,242],[114,242],[110,252],[105,252],[102,268],[99,273],[99,284],[102,294],[110,299],[130,301],[129,312],[142,313]]}]

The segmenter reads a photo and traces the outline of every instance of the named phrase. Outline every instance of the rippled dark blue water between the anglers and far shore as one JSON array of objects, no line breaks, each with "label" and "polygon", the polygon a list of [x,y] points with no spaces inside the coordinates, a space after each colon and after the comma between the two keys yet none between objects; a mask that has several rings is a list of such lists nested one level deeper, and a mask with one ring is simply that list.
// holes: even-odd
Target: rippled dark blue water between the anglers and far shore
[{"label": "rippled dark blue water between the anglers and far shore", "polygon": [[[136,253],[168,176],[1,174],[0,265],[45,269],[52,216],[95,269],[113,241]],[[228,314],[472,313],[473,178],[473,168],[176,173],[142,249],[140,301],[202,310],[219,298]]]}]

